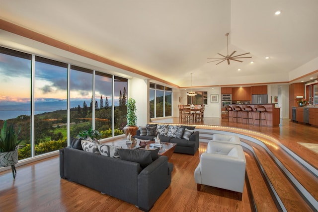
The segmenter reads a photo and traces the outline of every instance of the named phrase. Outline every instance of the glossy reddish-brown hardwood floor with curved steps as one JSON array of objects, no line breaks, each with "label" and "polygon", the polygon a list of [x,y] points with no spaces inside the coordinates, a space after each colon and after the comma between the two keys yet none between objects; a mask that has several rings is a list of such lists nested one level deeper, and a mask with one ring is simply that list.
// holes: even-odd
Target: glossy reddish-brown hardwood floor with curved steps
[{"label": "glossy reddish-brown hardwood floor with curved steps", "polygon": [[[156,122],[182,124],[179,123],[178,118]],[[318,143],[318,128],[292,123],[288,120],[283,120],[280,128],[267,128],[239,125],[229,123],[227,120],[212,118],[206,118],[204,122],[196,123],[196,125],[198,125],[197,128],[209,128],[204,127],[204,125],[243,128],[269,135],[283,143],[305,161],[316,168],[318,167],[318,154],[298,143]],[[246,173],[250,188],[245,181],[241,201],[238,200],[238,194],[235,192],[209,186],[203,185],[201,191],[197,192],[193,173],[200,161],[200,155],[205,152],[207,146],[206,142],[200,142],[199,151],[194,156],[173,153],[169,160],[174,165],[171,185],[160,196],[151,211],[283,211],[278,206],[277,200],[273,198],[273,192],[269,189],[270,185],[265,180],[266,178],[270,180],[280,196],[280,201],[286,211],[316,211],[294,188],[293,183],[277,166],[273,156],[269,155],[264,147],[248,140],[241,139],[241,141],[250,145],[254,151],[244,148]],[[286,169],[290,170],[317,200],[317,177],[291,159],[283,149],[277,148],[266,138],[262,138],[262,141],[268,142],[266,146],[273,152],[274,156],[285,164]],[[265,174],[260,171],[260,165],[265,170]],[[19,166],[16,169],[15,179],[12,177],[11,170],[0,172],[1,212],[139,211],[131,204],[61,179],[59,176],[59,157],[57,156]]]}]

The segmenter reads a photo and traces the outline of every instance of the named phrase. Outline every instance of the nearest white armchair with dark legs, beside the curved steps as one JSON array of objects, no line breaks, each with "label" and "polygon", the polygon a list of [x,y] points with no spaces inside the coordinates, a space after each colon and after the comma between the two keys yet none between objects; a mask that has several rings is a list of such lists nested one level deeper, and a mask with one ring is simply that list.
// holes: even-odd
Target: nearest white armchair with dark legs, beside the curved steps
[{"label": "nearest white armchair with dark legs, beside the curved steps", "polygon": [[194,171],[198,191],[203,184],[243,193],[245,165],[240,145],[210,141]]}]

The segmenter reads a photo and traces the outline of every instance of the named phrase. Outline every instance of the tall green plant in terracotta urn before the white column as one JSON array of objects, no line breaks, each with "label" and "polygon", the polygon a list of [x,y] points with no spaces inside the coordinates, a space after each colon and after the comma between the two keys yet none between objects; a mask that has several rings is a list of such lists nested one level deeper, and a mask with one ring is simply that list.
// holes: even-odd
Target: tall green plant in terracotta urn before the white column
[{"label": "tall green plant in terracotta urn before the white column", "polygon": [[133,98],[128,98],[127,101],[127,125],[124,127],[124,132],[126,137],[130,134],[132,137],[136,136],[136,132],[138,127],[136,126],[137,123],[137,116],[136,116],[136,100]]}]

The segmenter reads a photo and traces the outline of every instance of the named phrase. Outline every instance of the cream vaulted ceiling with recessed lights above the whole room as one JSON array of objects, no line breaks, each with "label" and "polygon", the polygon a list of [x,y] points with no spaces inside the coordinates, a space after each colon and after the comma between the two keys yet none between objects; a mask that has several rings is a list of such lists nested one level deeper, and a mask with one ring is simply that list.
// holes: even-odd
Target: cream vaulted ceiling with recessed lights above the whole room
[{"label": "cream vaulted ceiling with recessed lights above the whole room", "polygon": [[[180,87],[191,72],[193,86],[308,81],[317,9],[317,0],[0,0],[3,20]],[[226,33],[230,54],[252,58],[207,63],[227,55]]]}]

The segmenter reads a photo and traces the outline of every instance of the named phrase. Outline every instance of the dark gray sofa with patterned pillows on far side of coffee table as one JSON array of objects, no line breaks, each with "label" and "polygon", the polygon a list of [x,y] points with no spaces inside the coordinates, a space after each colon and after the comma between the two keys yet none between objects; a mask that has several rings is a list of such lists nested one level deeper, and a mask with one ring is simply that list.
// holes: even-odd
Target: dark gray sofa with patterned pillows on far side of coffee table
[{"label": "dark gray sofa with patterned pillows on far side of coffee table", "polygon": [[[168,130],[163,132],[162,126],[167,126]],[[183,134],[181,133],[181,136],[177,138],[176,135],[171,133],[171,130],[169,130],[169,125],[149,124],[146,127],[139,127],[139,130],[137,130],[136,136],[134,136],[133,138],[155,141],[155,138],[157,137],[157,135],[159,135],[161,142],[171,142],[171,143],[177,144],[175,146],[174,152],[194,155],[199,148],[199,137],[200,137],[199,132],[195,131],[195,127],[192,127],[192,126],[177,126],[177,127],[187,129],[187,130],[190,130],[190,132],[191,131],[193,132],[190,135],[188,134],[188,137],[186,137],[185,136],[186,130],[184,130]],[[144,132],[144,135],[141,135],[142,131],[145,130],[145,128],[146,128],[146,132]],[[150,130],[147,132],[147,129],[151,129],[151,128],[156,128],[155,135],[152,134],[150,136],[149,135]],[[148,135],[145,135],[145,134],[148,134]]]}]

